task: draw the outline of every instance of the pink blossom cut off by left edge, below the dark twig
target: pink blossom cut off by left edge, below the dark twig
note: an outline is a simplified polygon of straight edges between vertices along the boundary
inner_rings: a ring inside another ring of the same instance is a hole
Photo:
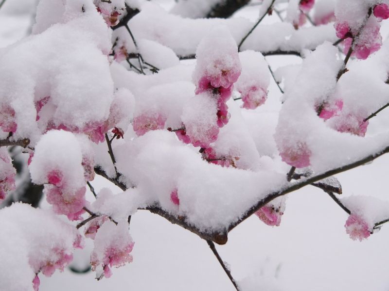
[[[4,147],[0,148],[0,201],[8,191],[15,190],[16,170],[12,166],[11,158]]]

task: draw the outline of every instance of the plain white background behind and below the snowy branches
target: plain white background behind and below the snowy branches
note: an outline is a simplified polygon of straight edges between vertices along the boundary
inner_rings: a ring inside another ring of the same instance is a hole
[[[26,35],[32,20],[22,12],[33,2],[7,0],[4,4],[0,10],[0,48]],[[167,7],[166,3],[172,1],[155,2]],[[11,14],[15,8],[20,11],[18,15]],[[258,9],[248,7],[236,16],[255,20]],[[265,17],[264,23],[273,21],[277,21],[276,16]],[[388,23],[383,23],[385,40],[389,30]],[[267,61],[276,69],[300,59],[268,57]],[[266,106],[259,112],[279,109],[280,92],[271,81]],[[371,119],[369,130],[385,124],[389,124],[389,110]],[[342,195],[371,195],[389,201],[388,162],[389,156],[384,156],[337,175]],[[96,190],[115,189],[100,177],[92,184]],[[266,226],[253,216],[229,234],[227,245],[216,247],[237,280],[252,276],[257,281],[252,291],[388,291],[389,224],[368,240],[355,242],[346,234],[346,219],[347,214],[327,194],[307,186],[288,195],[281,226]],[[134,261],[113,269],[111,278],[97,282],[92,272],[77,275],[69,270],[57,271],[50,278],[40,276],[39,290],[234,290],[207,243],[191,232],[148,211],[139,211],[132,217],[130,233],[135,241]],[[88,248],[84,256],[88,259]]]

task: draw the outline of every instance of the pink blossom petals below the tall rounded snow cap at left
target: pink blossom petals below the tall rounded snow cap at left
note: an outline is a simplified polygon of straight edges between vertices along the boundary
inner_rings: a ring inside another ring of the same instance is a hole
[[[69,220],[80,220],[84,213],[85,206],[85,187],[77,191],[64,190],[56,186],[46,185],[46,199],[57,214],[65,214]]]

